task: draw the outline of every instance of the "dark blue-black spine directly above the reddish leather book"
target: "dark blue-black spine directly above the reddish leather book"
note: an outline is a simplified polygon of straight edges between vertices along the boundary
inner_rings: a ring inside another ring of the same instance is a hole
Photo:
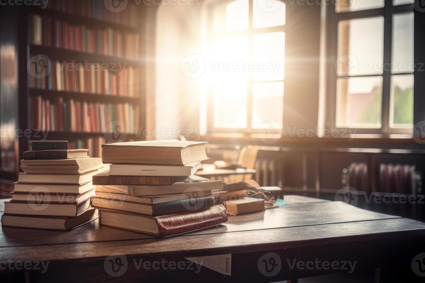
[[[202,208],[212,207],[214,202],[214,197],[210,196],[159,203],[152,206],[152,215],[157,216],[170,213],[200,210]]]

